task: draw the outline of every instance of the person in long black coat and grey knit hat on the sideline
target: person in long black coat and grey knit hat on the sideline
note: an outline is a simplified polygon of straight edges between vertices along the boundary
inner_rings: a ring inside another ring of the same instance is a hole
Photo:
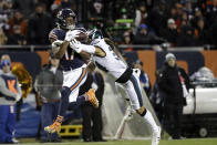
[[[165,64],[159,70],[157,85],[164,100],[163,126],[174,139],[180,138],[180,120],[183,106],[186,105],[184,83],[189,86],[187,74],[184,69],[177,66],[175,55],[167,53]]]

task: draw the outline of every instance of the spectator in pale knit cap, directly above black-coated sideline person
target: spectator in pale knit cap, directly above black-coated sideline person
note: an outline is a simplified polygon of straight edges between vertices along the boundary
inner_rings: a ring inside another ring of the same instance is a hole
[[[178,32],[174,19],[170,18],[167,20],[167,28],[162,29],[161,37],[166,39],[172,45],[175,45]]]

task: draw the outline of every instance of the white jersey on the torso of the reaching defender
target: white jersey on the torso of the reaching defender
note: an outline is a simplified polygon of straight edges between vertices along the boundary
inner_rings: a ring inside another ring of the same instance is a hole
[[[95,39],[91,45],[100,46],[105,52],[104,58],[93,55],[93,61],[97,68],[111,73],[115,79],[118,79],[126,71],[127,65],[105,43],[104,39]]]

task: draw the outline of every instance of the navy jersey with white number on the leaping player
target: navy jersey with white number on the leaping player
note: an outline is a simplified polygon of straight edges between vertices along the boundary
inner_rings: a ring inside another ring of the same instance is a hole
[[[49,39],[54,40],[64,40],[65,38],[65,31],[59,28],[55,28],[51,30],[49,34]],[[74,70],[84,64],[84,60],[81,58],[81,55],[69,46],[65,51],[65,54],[60,60],[60,64],[63,68],[63,71]]]

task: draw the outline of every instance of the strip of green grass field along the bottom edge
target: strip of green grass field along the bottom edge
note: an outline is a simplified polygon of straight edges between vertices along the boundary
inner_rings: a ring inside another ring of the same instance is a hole
[[[24,145],[40,145],[34,139],[20,139],[20,144]],[[54,144],[54,143],[46,143]],[[55,145],[151,145],[151,141],[108,141],[108,142],[93,142],[82,143],[80,141],[63,141],[63,143],[55,143]],[[162,139],[159,145],[217,145],[217,138],[194,138],[194,139]]]

